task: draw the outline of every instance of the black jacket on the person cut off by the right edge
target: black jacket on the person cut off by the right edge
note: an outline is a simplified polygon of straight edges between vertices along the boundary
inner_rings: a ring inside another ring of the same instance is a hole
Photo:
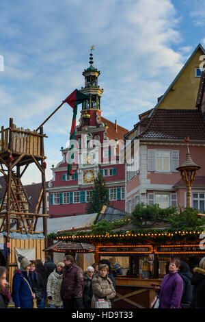
[[[191,308],[205,308],[205,270],[195,267],[193,272]]]

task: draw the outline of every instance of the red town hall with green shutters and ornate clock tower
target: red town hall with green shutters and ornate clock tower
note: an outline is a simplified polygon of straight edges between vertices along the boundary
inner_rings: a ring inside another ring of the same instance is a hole
[[[90,97],[82,104],[81,118],[76,128],[74,165],[72,176],[67,175],[69,149],[61,149],[62,160],[53,166],[53,179],[49,182],[49,216],[85,214],[85,206],[94,186],[94,177],[102,173],[109,189],[110,204],[125,209],[125,171],[119,162],[119,142],[127,129],[101,116],[101,95],[98,86],[100,71],[92,66],[83,71],[85,86],[81,92]]]

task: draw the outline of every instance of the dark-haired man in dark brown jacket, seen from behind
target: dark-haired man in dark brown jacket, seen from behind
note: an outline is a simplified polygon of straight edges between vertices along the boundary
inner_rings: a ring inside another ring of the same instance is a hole
[[[64,257],[63,281],[61,284],[61,297],[64,308],[83,307],[83,270],[74,263],[71,255]]]

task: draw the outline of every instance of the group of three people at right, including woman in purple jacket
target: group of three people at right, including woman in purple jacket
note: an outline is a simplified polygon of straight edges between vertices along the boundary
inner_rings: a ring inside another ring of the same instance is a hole
[[[187,262],[171,260],[161,286],[153,284],[153,288],[159,301],[154,308],[205,308],[205,257],[193,273]]]

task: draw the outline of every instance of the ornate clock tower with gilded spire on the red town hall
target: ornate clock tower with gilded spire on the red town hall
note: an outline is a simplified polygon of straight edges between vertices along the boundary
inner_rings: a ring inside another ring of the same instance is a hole
[[[79,156],[78,181],[82,185],[92,184],[99,171],[98,164],[101,157],[99,147],[104,139],[104,136],[99,134],[99,130],[100,132],[103,129],[105,131],[100,108],[103,89],[98,86],[100,71],[93,66],[93,50],[94,46],[90,50],[90,67],[83,71],[85,86],[81,88],[81,92],[89,96],[90,99],[82,104],[80,124],[76,132],[76,140],[79,143],[77,149]]]

